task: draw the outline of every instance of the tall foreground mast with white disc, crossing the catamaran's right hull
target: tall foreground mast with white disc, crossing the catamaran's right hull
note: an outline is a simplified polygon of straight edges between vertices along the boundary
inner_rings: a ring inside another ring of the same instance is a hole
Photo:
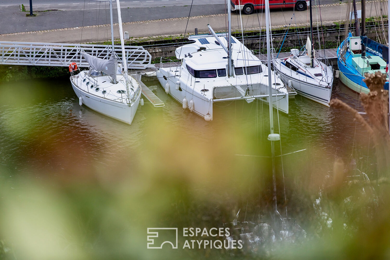
[[[273,134],[273,105],[272,105],[272,77],[271,77],[271,46],[269,36],[269,0],[266,0],[266,34],[267,34],[267,66],[268,66],[268,99],[269,99],[269,126],[271,134]],[[272,182],[273,182],[273,203],[275,212],[278,212],[277,198],[276,198],[276,174],[275,174],[275,146],[271,141],[271,155],[272,155]]]

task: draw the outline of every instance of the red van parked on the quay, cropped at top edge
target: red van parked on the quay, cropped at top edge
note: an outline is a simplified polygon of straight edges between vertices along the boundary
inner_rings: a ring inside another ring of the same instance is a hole
[[[244,14],[252,14],[255,9],[264,9],[264,0],[230,0],[232,11],[242,10]],[[293,7],[298,11],[306,10],[309,1],[304,0],[269,0],[269,9]]]

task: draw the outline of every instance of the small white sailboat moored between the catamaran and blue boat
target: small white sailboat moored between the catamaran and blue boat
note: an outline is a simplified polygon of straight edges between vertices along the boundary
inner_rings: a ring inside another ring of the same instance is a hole
[[[311,1],[310,1],[311,2]],[[310,4],[311,41],[307,37],[306,50],[290,50],[290,57],[273,62],[278,76],[285,83],[289,81],[296,92],[308,99],[329,106],[333,86],[333,71],[314,57],[312,5]]]

